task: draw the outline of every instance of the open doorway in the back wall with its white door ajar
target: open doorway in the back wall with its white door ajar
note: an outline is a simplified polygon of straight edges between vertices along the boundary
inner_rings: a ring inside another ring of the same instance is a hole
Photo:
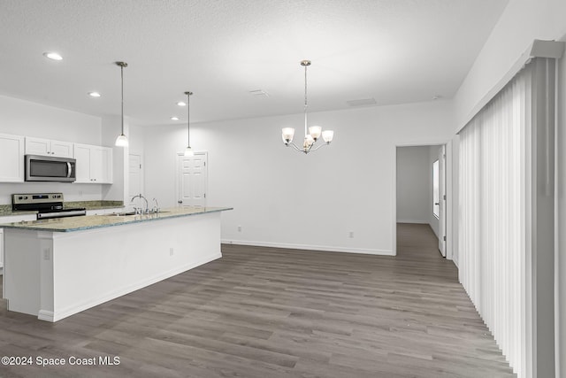
[[[451,144],[402,145],[395,148],[394,251],[397,223],[426,224],[438,237],[440,254],[451,251]]]

